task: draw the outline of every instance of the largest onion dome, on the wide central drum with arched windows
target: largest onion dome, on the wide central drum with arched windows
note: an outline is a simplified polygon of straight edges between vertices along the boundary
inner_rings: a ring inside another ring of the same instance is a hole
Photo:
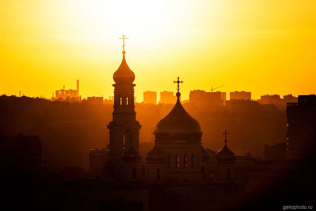
[[[173,109],[156,124],[156,141],[201,141],[201,125],[185,111],[180,103],[180,95],[177,92],[177,102]]]

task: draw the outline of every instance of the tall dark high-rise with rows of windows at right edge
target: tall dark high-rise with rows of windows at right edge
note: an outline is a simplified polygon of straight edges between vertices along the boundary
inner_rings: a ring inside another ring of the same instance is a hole
[[[315,94],[299,95],[298,102],[287,103],[286,142],[286,156],[288,159],[315,159]]]

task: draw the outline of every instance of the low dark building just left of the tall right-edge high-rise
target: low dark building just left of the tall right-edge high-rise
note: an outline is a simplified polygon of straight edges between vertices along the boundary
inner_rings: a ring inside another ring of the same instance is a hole
[[[271,159],[286,159],[286,143],[277,143],[272,146],[264,145],[264,160]]]

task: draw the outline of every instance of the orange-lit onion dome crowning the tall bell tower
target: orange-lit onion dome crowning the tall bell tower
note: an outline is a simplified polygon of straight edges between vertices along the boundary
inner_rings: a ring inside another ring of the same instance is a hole
[[[125,60],[125,51],[123,53],[123,60],[121,65],[119,65],[119,69],[114,72],[113,80],[116,84],[131,84],[135,80],[135,74],[126,63]]]

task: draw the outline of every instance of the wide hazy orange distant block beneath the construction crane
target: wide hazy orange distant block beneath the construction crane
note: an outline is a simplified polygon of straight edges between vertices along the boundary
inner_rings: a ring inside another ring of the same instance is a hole
[[[191,103],[194,103],[197,106],[224,106],[226,105],[226,92],[206,92],[204,90],[193,90],[190,91],[189,99]]]

